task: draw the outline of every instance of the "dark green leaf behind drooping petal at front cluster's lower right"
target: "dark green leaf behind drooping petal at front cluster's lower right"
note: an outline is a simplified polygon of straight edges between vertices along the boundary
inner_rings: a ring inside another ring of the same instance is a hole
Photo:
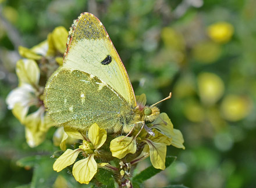
[[[173,156],[166,156],[165,159],[165,167],[169,167],[172,162],[174,162],[176,160],[176,157]],[[161,172],[161,169],[156,169],[154,168],[152,165],[146,169],[144,169],[144,171],[141,171],[140,173],[138,173],[134,178],[133,178],[133,186],[134,187],[140,187],[140,184],[142,182],[144,182],[147,179],[150,179],[152,176],[156,175],[157,173]]]

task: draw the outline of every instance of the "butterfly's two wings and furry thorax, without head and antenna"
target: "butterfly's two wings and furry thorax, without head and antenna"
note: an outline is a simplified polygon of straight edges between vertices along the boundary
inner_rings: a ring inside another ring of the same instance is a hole
[[[74,21],[63,66],[48,79],[44,96],[57,125],[84,130],[96,122],[116,132],[143,121],[125,67],[104,26],[90,13]]]

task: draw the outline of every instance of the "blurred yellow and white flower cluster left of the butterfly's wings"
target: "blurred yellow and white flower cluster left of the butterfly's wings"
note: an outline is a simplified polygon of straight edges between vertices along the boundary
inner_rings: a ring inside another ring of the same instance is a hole
[[[30,147],[38,146],[54,125],[45,113],[43,91],[49,76],[62,64],[66,48],[67,30],[57,27],[47,40],[27,49],[19,46],[23,59],[16,64],[19,85],[13,89],[6,103],[8,109],[25,126],[26,140]]]

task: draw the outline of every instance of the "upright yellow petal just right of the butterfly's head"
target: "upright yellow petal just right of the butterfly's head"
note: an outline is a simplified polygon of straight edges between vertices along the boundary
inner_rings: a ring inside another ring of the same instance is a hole
[[[163,135],[172,138],[173,124],[166,113],[159,114],[159,117],[152,124],[153,126],[150,128],[158,129]]]

